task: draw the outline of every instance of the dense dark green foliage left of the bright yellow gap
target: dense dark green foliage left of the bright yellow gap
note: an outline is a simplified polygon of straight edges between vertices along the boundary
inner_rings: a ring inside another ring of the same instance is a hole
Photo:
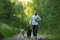
[[[21,15],[21,18],[18,17],[18,15]],[[21,24],[24,22],[24,15],[22,3],[15,5],[15,3],[11,3],[10,0],[1,0],[0,36],[10,37],[17,34]]]

